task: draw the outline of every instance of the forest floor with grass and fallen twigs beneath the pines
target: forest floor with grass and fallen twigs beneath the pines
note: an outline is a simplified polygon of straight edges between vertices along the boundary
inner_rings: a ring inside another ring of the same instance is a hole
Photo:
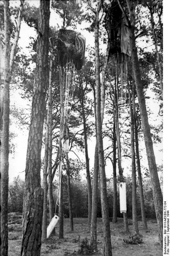
[[[142,229],[142,221],[138,221],[139,232],[142,236],[141,244],[126,244],[123,239],[133,236],[132,220],[128,220],[131,234],[124,233],[124,223],[122,218],[118,218],[117,223],[110,222],[111,244],[113,256],[160,256],[160,244],[158,240],[158,229],[156,220],[147,220],[150,232],[144,232]],[[21,224],[15,224],[14,228],[9,228],[9,256],[20,255],[21,248]],[[102,219],[97,219],[97,246],[98,252],[92,255],[103,255],[103,227]],[[42,243],[41,256],[71,256],[79,255],[77,251],[80,249],[80,241],[90,236],[88,229],[88,219],[74,218],[74,231],[69,230],[69,218],[64,219],[64,239],[58,239],[58,227],[55,228],[56,236],[48,239],[46,243]]]

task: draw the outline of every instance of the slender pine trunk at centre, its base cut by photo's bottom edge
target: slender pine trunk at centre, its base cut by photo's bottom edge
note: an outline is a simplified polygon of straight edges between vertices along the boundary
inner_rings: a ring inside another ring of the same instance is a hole
[[[99,8],[99,9],[98,9]],[[102,120],[101,120],[101,84],[100,84],[100,57],[99,57],[99,10],[96,11],[95,20],[95,57],[96,57],[96,130],[97,130],[97,148],[99,157],[100,170],[100,186],[101,186],[101,205],[102,205],[102,219],[103,219],[103,233],[104,233],[104,256],[112,256],[111,238],[110,238],[110,222],[109,211],[107,203],[107,187],[106,174],[104,167],[103,154],[103,138],[102,138]]]

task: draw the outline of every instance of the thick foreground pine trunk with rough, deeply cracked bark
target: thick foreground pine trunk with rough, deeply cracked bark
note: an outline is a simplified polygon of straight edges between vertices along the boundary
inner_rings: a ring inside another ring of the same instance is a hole
[[[25,169],[21,256],[39,256],[41,249],[43,189],[40,188],[40,168],[48,78],[49,17],[49,1],[40,1],[37,63]]]

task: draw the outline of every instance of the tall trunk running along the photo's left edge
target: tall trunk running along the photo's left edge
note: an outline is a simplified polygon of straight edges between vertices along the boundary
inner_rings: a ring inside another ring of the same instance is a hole
[[[4,1],[4,102],[1,140],[1,255],[8,255],[8,169],[10,124],[10,11],[9,1]]]

